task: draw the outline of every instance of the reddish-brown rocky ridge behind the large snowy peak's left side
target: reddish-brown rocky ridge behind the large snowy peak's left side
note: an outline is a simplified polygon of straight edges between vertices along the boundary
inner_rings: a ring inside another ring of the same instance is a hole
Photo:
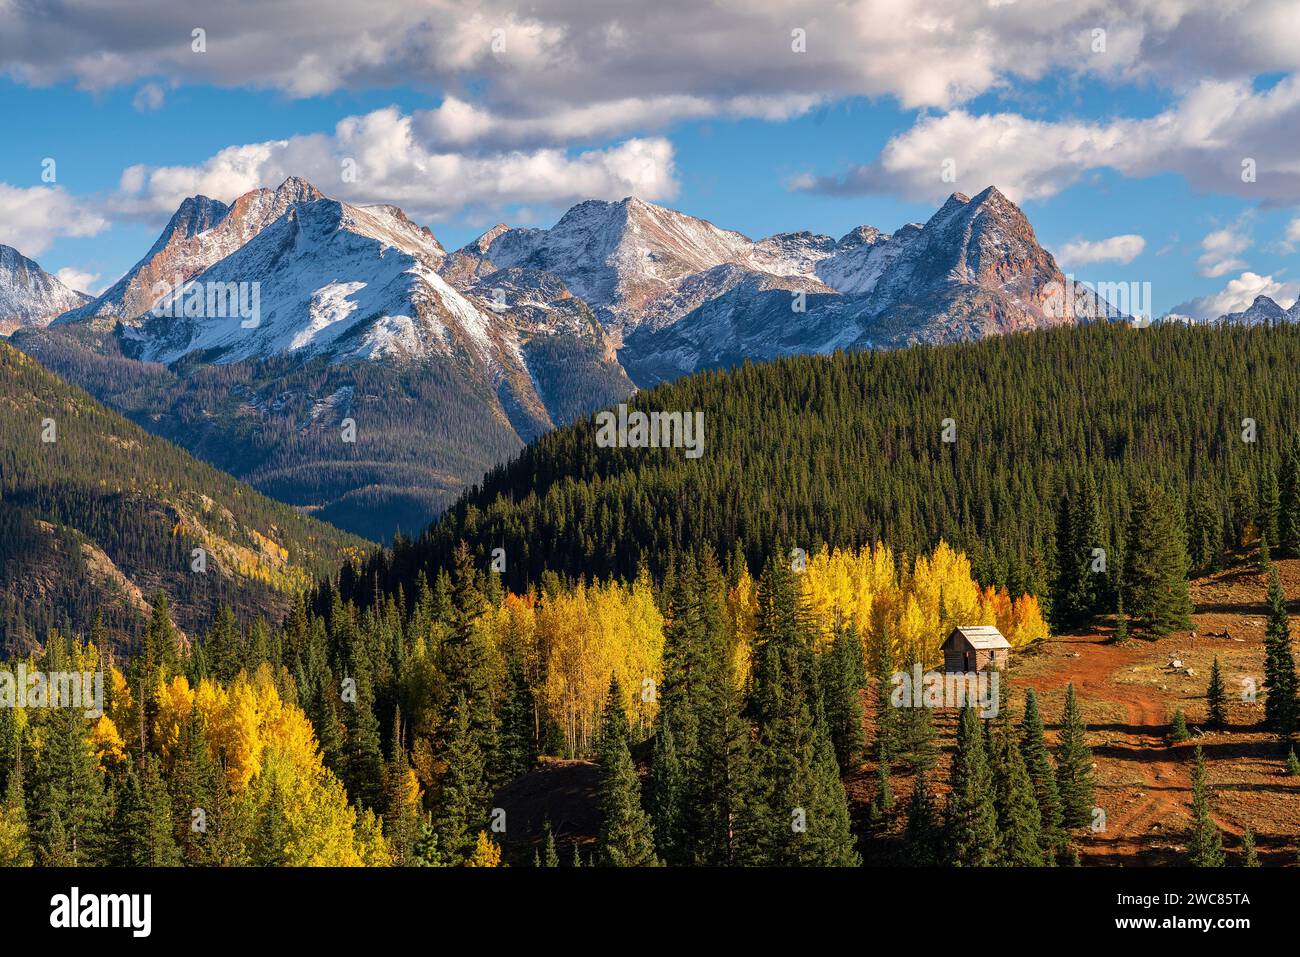
[[[57,321],[136,324],[161,295],[220,263],[291,207],[320,198],[320,191],[299,177],[290,177],[274,190],[246,192],[231,205],[191,196],[181,203],[139,263],[96,299]]]

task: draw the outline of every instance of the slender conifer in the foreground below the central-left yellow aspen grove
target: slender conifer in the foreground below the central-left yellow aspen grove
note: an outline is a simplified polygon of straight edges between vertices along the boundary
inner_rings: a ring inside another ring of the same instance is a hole
[[[641,806],[641,780],[628,750],[628,718],[618,680],[610,685],[601,722],[599,859],[607,867],[654,867],[650,815]]]

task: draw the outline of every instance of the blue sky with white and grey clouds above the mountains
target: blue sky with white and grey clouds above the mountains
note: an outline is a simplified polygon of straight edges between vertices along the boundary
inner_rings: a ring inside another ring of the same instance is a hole
[[[755,238],[889,231],[996,185],[1157,315],[1300,295],[1294,0],[360,7],[0,10],[0,242],[96,291],[185,195],[290,173],[447,247],[628,194]]]

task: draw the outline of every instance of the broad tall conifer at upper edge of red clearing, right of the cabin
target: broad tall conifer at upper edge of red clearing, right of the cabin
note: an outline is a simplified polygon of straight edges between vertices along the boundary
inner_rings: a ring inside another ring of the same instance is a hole
[[[1150,635],[1191,627],[1187,547],[1178,512],[1157,485],[1138,482],[1124,538],[1124,609]]]

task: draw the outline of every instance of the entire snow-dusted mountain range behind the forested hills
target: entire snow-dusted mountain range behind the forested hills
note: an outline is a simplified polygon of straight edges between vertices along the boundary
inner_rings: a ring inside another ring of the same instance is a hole
[[[1067,283],[993,187],[838,239],[592,200],[448,254],[396,207],[290,178],[185,200],[126,276],[13,341],[266,494],[384,538],[637,386],[1067,325]]]

